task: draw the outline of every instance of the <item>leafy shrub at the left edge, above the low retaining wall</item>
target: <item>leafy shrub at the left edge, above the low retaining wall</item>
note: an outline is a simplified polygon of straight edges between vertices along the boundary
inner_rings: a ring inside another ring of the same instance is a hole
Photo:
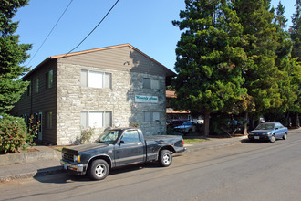
[[[31,120],[32,121],[32,120]],[[38,127],[38,124],[34,127]],[[37,130],[27,133],[26,123],[22,118],[8,114],[0,115],[0,153],[17,153],[26,150],[33,142]]]

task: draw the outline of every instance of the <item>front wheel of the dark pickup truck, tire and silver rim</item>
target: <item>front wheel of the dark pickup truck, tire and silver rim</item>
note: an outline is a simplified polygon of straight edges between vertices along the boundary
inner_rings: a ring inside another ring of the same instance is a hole
[[[88,175],[94,180],[105,179],[109,175],[109,164],[102,159],[93,161],[88,168]]]

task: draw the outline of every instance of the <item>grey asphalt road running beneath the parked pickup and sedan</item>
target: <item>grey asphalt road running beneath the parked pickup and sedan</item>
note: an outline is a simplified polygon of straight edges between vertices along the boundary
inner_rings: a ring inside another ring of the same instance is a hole
[[[182,153],[115,170],[103,181],[48,175],[0,184],[0,200],[301,200],[301,133],[287,140]]]

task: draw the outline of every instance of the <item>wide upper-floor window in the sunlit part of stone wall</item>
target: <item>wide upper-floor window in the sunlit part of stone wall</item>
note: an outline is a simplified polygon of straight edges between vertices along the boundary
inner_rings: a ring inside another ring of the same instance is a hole
[[[99,71],[80,70],[80,85],[89,88],[111,88],[111,74]]]

